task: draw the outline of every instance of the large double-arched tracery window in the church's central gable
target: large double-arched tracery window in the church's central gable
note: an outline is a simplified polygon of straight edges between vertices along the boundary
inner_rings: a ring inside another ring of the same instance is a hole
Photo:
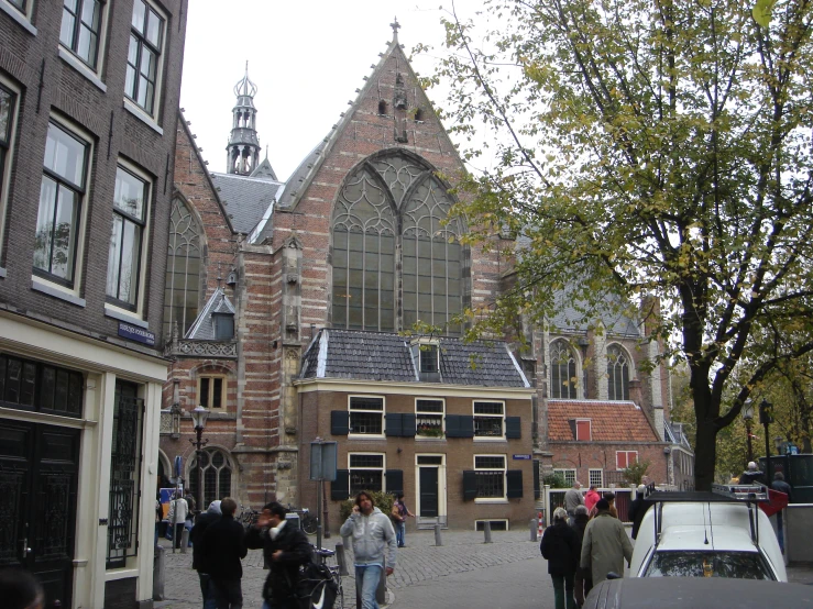
[[[448,325],[463,306],[462,226],[446,222],[452,204],[431,167],[402,154],[372,158],[345,180],[333,211],[334,328],[421,321],[460,332]]]

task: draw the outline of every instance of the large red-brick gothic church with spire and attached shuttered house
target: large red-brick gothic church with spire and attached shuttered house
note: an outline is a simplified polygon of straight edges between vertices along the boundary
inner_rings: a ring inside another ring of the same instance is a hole
[[[341,120],[286,180],[261,144],[256,87],[237,98],[224,173],[183,117],[168,240],[160,474],[197,496],[190,411],[209,411],[205,503],[316,508],[309,445],[338,443],[325,517],[360,489],[404,491],[419,527],[527,523],[540,476],[604,486],[628,463],[675,484],[664,368],[636,320],[528,328],[465,343],[459,313],[512,281],[512,258],[461,241],[463,164],[393,41]],[[495,237],[496,239],[496,237]],[[510,250],[510,248],[508,248]],[[503,340],[499,340],[503,339]],[[677,430],[679,431],[679,430]],[[682,446],[682,449],[681,449]],[[686,473],[686,479],[689,472]],[[679,484],[679,483],[678,483]]]

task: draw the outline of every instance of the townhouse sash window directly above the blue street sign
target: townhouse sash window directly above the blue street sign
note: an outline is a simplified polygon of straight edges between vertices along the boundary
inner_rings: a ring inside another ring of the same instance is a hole
[[[138,308],[150,186],[145,176],[130,168],[119,166],[116,170],[107,295],[112,303],[133,311]]]

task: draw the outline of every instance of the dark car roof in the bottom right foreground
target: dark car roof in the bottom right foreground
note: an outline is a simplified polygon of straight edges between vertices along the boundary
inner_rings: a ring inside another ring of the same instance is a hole
[[[799,609],[813,608],[813,586],[726,577],[606,579],[590,591],[584,609]]]

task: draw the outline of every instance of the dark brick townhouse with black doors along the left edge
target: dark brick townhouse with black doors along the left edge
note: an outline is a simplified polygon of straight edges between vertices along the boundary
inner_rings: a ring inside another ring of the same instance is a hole
[[[48,607],[152,606],[185,31],[185,0],[0,0],[0,566]]]

